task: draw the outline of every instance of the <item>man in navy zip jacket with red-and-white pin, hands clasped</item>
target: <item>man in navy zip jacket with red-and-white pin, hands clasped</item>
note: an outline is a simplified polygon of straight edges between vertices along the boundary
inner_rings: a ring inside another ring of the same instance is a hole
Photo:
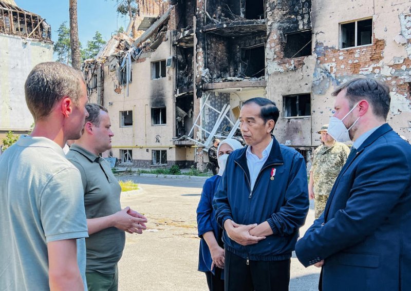
[[[271,135],[278,116],[266,98],[244,103],[240,130],[248,147],[230,154],[214,196],[224,229],[226,290],[288,290],[309,201],[303,156]]]

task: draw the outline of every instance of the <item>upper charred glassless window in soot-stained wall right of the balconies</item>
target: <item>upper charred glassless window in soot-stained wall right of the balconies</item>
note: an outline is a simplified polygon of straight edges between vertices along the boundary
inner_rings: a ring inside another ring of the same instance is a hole
[[[287,34],[284,57],[293,58],[311,55],[311,30]]]

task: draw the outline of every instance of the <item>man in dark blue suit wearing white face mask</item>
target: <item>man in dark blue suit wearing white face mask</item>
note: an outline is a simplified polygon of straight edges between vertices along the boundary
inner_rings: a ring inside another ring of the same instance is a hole
[[[325,291],[411,288],[411,146],[386,123],[389,88],[353,79],[332,95],[328,133],[353,141],[325,211],[295,247]]]

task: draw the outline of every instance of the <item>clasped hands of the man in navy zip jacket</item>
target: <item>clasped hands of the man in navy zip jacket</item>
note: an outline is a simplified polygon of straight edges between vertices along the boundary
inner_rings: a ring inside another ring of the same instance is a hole
[[[256,244],[260,240],[265,239],[267,236],[272,235],[270,224],[267,221],[257,224],[238,224],[227,219],[224,222],[224,229],[230,239],[241,245]]]

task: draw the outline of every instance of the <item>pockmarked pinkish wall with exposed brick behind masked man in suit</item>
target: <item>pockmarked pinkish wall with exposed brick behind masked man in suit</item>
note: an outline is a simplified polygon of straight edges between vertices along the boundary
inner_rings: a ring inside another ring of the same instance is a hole
[[[330,93],[338,84],[358,77],[380,78],[390,87],[388,122],[411,138],[411,13],[408,1],[364,0],[313,2],[314,52],[313,128],[328,122]],[[327,17],[325,16],[327,15]]]

